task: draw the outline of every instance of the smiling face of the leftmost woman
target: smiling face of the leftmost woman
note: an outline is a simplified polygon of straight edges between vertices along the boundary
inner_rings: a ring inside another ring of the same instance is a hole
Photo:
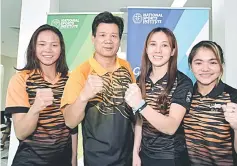
[[[40,66],[56,65],[61,53],[60,40],[57,34],[50,30],[39,33],[36,41],[36,57]]]

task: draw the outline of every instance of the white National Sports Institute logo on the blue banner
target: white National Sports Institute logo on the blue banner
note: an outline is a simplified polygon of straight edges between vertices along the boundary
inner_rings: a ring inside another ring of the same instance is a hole
[[[135,13],[132,17],[135,24],[161,24],[162,13]]]

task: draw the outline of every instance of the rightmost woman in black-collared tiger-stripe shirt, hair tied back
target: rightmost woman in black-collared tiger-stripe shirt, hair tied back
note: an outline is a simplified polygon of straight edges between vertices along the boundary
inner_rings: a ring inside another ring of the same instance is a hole
[[[221,81],[222,48],[201,41],[192,48],[188,61],[197,79],[184,118],[191,165],[237,165],[237,90]]]

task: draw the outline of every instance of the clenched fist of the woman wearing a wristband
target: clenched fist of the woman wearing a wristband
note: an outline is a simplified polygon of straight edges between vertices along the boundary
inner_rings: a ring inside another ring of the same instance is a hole
[[[125,92],[125,101],[133,109],[137,108],[142,101],[141,90],[136,83],[129,84]]]

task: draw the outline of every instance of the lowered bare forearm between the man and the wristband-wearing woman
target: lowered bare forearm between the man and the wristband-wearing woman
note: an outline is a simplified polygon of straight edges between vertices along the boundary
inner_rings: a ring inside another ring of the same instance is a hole
[[[139,153],[140,146],[141,146],[141,140],[142,140],[142,119],[137,119],[134,133],[135,133],[135,136],[134,136],[133,152]]]

